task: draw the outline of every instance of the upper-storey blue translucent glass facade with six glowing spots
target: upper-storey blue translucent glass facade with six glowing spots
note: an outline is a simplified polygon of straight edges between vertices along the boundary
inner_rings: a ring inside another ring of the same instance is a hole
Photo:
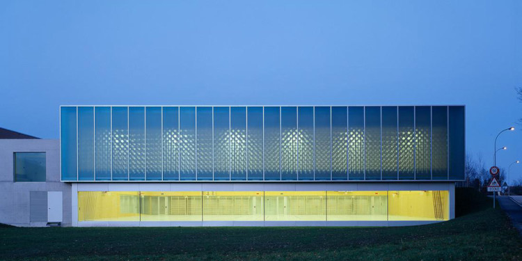
[[[464,106],[62,106],[63,181],[462,180]]]

